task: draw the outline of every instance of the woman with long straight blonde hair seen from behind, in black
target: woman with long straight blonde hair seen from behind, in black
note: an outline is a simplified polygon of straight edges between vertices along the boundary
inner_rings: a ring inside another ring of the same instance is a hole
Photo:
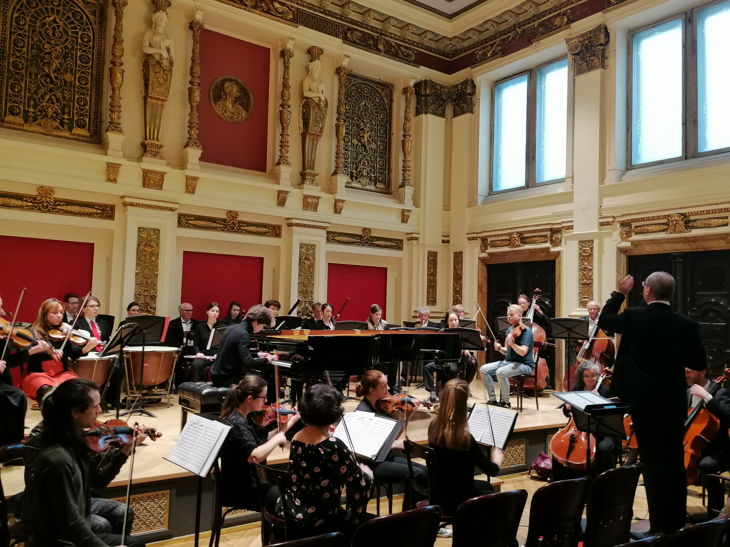
[[[461,379],[447,381],[441,391],[439,414],[429,424],[429,444],[434,451],[434,465],[429,466],[431,498],[443,514],[453,515],[456,508],[470,497],[493,492],[489,481],[477,481],[474,468],[488,477],[499,473],[504,452],[493,449],[493,459],[487,457],[467,428],[469,384]],[[439,535],[450,535],[447,529]]]

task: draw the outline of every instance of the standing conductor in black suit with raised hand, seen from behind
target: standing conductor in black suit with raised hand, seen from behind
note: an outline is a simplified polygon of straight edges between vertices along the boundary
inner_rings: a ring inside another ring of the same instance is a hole
[[[622,335],[610,394],[618,395],[631,408],[643,464],[650,534],[672,533],[685,525],[687,512],[685,368],[704,370],[707,355],[699,324],[672,311],[669,304],[675,279],[655,271],[642,286],[647,306],[628,308],[619,314],[623,300],[634,287],[634,278],[618,279],[617,290],[599,317],[599,327]],[[632,534],[637,536],[643,534]]]

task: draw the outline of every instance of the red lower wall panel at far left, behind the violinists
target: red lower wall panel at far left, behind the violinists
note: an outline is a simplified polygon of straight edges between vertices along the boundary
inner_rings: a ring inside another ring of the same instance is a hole
[[[3,309],[15,312],[20,290],[27,289],[20,306],[20,321],[34,322],[47,298],[63,302],[66,292],[76,292],[84,298],[91,290],[93,243],[1,236],[0,256],[4,260],[0,292]],[[103,302],[104,295],[96,296]],[[18,385],[18,368],[13,368],[12,373]]]

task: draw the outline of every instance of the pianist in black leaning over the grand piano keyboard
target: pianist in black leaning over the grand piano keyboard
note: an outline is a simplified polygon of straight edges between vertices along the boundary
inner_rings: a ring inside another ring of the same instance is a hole
[[[248,368],[261,371],[270,379],[271,367],[268,365],[272,361],[278,361],[279,357],[266,352],[258,352],[258,356],[251,354],[249,346],[251,335],[271,325],[272,319],[271,310],[257,304],[251,306],[243,322],[226,329],[220,339],[218,357],[215,357],[210,368],[210,377],[215,387],[238,384]],[[272,397],[276,400],[274,391],[272,390]]]

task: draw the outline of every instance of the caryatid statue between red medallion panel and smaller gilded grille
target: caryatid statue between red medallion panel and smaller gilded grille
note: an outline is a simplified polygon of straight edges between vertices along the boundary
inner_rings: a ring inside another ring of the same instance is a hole
[[[322,136],[327,119],[327,98],[324,96],[324,83],[319,74],[322,70],[320,55],[324,50],[320,47],[310,47],[310,64],[307,76],[301,82],[304,98],[301,101],[301,183],[317,185],[315,172],[315,158],[317,144]]]

